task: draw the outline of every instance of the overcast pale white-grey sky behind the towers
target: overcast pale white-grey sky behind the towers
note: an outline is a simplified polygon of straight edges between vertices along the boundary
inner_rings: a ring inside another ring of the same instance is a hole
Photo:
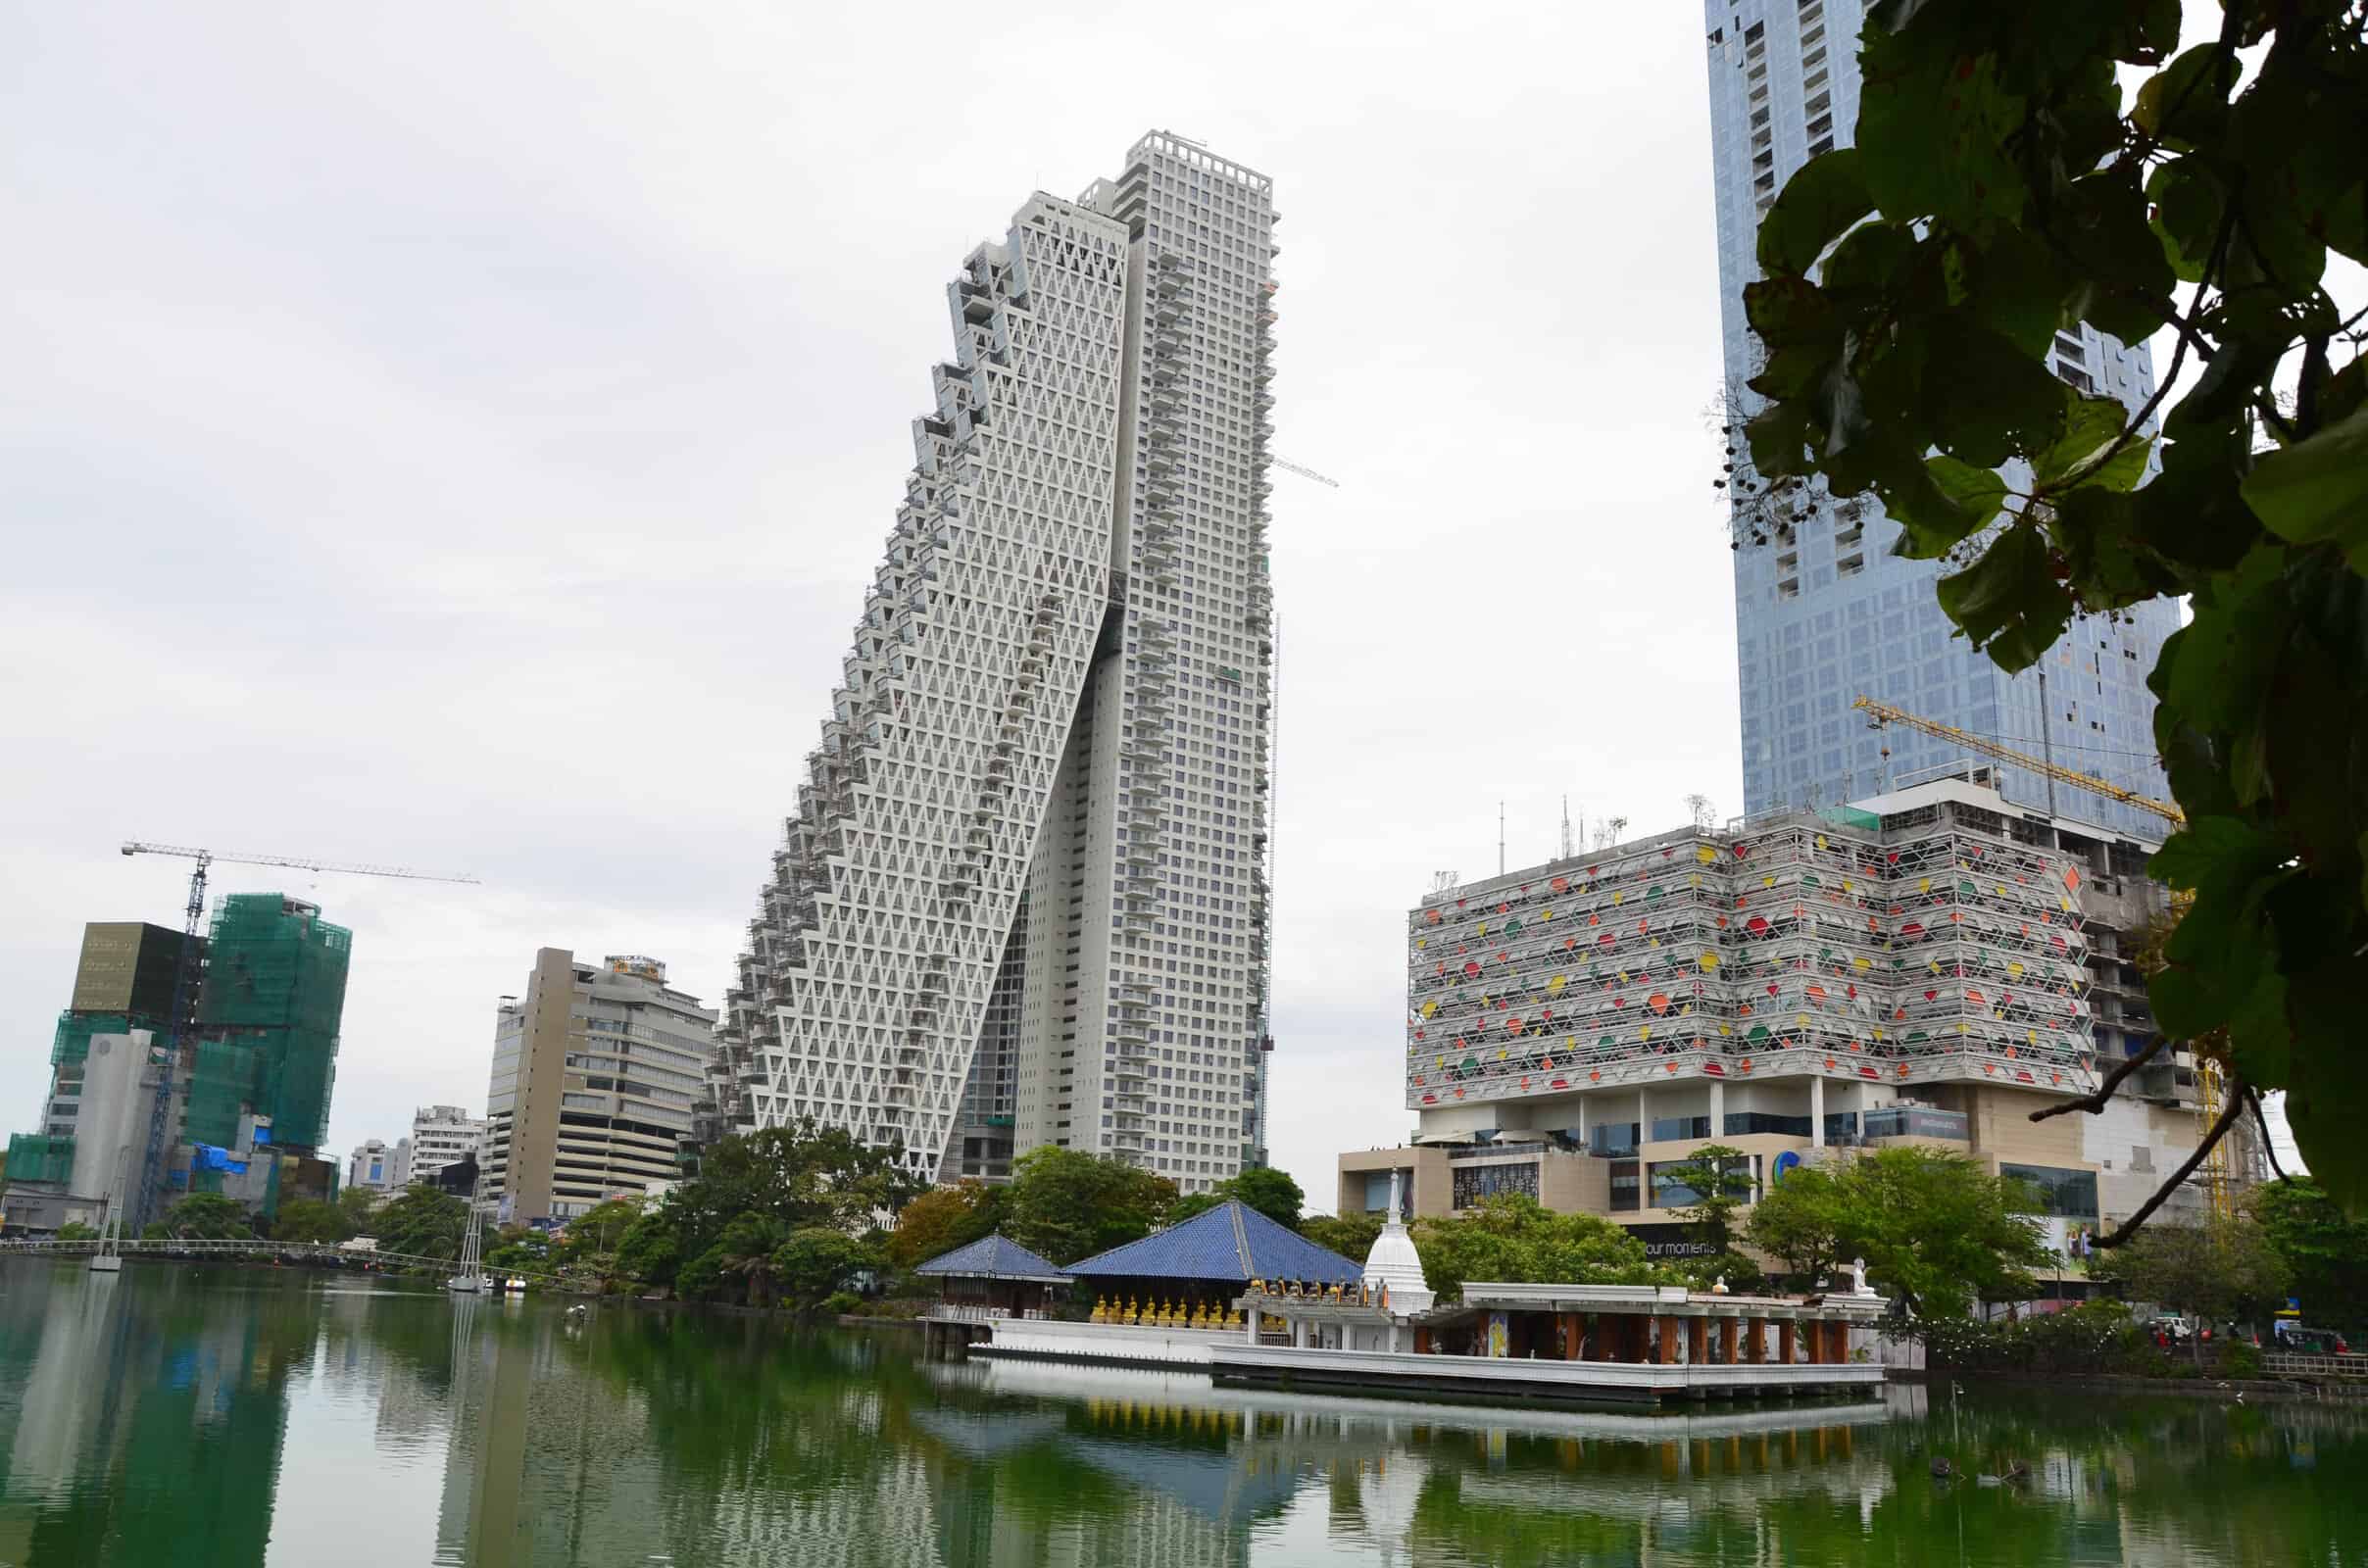
[[[1404,910],[1740,803],[1698,12],[0,9],[0,1123],[85,919],[353,928],[332,1144],[535,947],[727,978],[945,282],[1146,128],[1283,211],[1274,1156],[1397,1142]]]

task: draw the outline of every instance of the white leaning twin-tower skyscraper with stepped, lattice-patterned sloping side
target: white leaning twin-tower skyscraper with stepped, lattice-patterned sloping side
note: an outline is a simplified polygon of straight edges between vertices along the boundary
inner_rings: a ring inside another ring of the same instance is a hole
[[[725,997],[729,1123],[1198,1191],[1265,1158],[1272,182],[1151,133],[954,358]]]

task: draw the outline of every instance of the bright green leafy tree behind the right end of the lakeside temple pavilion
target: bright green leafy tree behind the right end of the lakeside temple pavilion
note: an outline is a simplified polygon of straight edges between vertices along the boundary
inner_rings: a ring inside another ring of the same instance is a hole
[[[1819,1272],[1864,1258],[1916,1317],[1965,1317],[1975,1300],[2018,1300],[2053,1258],[2018,1182],[1961,1153],[1878,1149],[1840,1165],[1797,1165],[1752,1206],[1752,1246]],[[1802,1270],[1809,1272],[1809,1270]]]

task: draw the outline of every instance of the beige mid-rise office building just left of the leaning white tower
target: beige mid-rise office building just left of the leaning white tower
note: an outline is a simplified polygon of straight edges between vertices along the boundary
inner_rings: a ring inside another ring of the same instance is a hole
[[[504,1220],[571,1220],[677,1180],[713,1030],[658,959],[535,952],[526,995],[495,1016],[485,1199]]]

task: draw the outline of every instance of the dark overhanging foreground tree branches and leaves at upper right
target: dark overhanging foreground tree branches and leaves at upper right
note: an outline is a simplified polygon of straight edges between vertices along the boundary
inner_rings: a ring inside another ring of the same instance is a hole
[[[2228,1030],[2207,1142],[2285,1087],[2314,1177],[2361,1210],[2368,313],[2328,258],[2368,261],[2368,12],[2226,0],[2214,38],[2179,31],[2171,0],[1875,5],[1857,144],[1759,225],[1745,436],[1788,521],[1873,495],[1897,554],[1946,559],[1942,611],[2003,670],[2188,599],[2148,682],[2186,815],[2153,874],[2195,893],[2155,1018]],[[2122,66],[2155,73],[2124,99]],[[2048,372],[2079,322],[2176,339],[2136,415]]]

